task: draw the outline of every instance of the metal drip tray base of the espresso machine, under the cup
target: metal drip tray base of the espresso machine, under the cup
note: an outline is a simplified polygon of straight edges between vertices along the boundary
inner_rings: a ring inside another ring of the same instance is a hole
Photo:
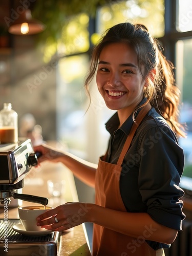
[[[1,256],[56,256],[59,232],[41,237],[19,234],[12,226],[19,220],[0,220],[0,255]],[[7,240],[8,239],[8,240]]]

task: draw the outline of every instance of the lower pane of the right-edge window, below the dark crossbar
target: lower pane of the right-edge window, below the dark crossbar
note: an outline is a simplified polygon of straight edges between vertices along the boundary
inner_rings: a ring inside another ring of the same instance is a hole
[[[192,39],[179,40],[177,42],[177,81],[181,86],[182,108],[180,120],[187,125],[187,138],[180,138],[179,142],[184,149],[185,168],[184,175],[192,178],[192,92],[191,92],[191,58]]]

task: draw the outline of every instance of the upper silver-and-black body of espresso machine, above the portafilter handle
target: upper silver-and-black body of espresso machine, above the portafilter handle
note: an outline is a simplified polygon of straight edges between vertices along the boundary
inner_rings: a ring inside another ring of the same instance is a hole
[[[37,156],[30,139],[14,144],[0,144],[0,200],[13,197],[16,189],[24,187],[24,178],[32,166],[37,165]]]

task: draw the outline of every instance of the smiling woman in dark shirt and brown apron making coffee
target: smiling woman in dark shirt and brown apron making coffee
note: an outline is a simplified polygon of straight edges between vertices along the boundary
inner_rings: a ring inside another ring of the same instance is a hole
[[[98,165],[47,145],[34,148],[42,154],[39,162],[61,162],[95,188],[95,202],[57,206],[40,215],[37,225],[63,231],[94,223],[93,256],[164,255],[185,218],[179,188],[184,156],[175,136],[183,131],[172,65],[143,26],[121,23],[94,48],[87,89],[95,74],[106,105],[117,110],[106,123],[111,137]],[[72,222],[81,207],[88,210]]]

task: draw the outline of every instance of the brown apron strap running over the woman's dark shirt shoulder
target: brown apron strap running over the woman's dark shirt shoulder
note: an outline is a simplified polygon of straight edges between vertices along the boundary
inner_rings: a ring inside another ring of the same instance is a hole
[[[129,135],[126,138],[126,141],[124,143],[123,149],[121,151],[121,154],[119,156],[119,159],[117,161],[117,165],[121,166],[123,159],[125,157],[125,154],[127,153],[127,151],[130,148],[131,142],[133,140],[133,136],[137,130],[137,128],[139,127],[139,124],[141,123],[141,121],[143,120],[143,118],[146,116],[146,114],[148,113],[148,111],[150,111],[152,108],[150,103],[147,103],[146,106],[143,107],[142,110],[140,110],[139,114],[137,115],[135,122],[132,125],[131,131],[129,133]]]

